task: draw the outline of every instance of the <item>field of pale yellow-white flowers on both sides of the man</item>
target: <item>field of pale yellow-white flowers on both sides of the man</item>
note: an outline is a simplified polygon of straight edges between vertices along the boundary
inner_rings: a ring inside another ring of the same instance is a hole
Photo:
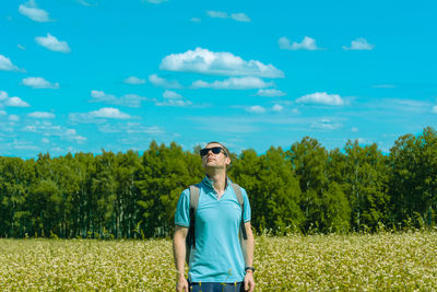
[[[258,236],[257,291],[436,291],[437,233]],[[174,291],[172,242],[0,240],[0,290]]]

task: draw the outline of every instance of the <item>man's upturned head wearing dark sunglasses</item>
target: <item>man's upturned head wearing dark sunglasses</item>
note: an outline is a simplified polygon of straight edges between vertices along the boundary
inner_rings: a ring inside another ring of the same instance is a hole
[[[229,151],[220,142],[209,142],[205,148],[200,150],[202,165],[205,170],[216,170],[226,167],[231,164]]]

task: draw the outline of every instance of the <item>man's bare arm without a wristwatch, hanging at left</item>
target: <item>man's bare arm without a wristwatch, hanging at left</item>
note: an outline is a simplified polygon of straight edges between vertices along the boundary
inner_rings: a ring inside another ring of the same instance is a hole
[[[176,291],[188,292],[188,282],[185,279],[185,257],[186,257],[186,237],[188,227],[175,226],[175,235],[173,236],[173,256],[175,258],[175,267],[177,272]]]

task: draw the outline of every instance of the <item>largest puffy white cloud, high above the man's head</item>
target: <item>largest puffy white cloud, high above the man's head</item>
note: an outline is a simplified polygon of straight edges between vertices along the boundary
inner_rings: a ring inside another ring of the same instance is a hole
[[[214,52],[200,47],[182,54],[166,56],[162,60],[160,69],[215,75],[284,77],[284,73],[271,63],[264,65],[258,60],[246,61],[231,52]]]

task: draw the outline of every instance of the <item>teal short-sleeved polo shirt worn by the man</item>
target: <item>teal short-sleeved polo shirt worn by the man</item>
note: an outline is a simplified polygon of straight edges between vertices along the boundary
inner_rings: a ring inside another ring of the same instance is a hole
[[[245,260],[238,233],[241,224],[241,207],[231,179],[223,196],[217,194],[205,176],[199,184],[199,205],[196,213],[196,248],[189,259],[188,279],[191,282],[240,282],[245,278]],[[244,221],[250,221],[250,205],[246,190],[244,199]],[[190,225],[190,190],[179,197],[175,224]]]

